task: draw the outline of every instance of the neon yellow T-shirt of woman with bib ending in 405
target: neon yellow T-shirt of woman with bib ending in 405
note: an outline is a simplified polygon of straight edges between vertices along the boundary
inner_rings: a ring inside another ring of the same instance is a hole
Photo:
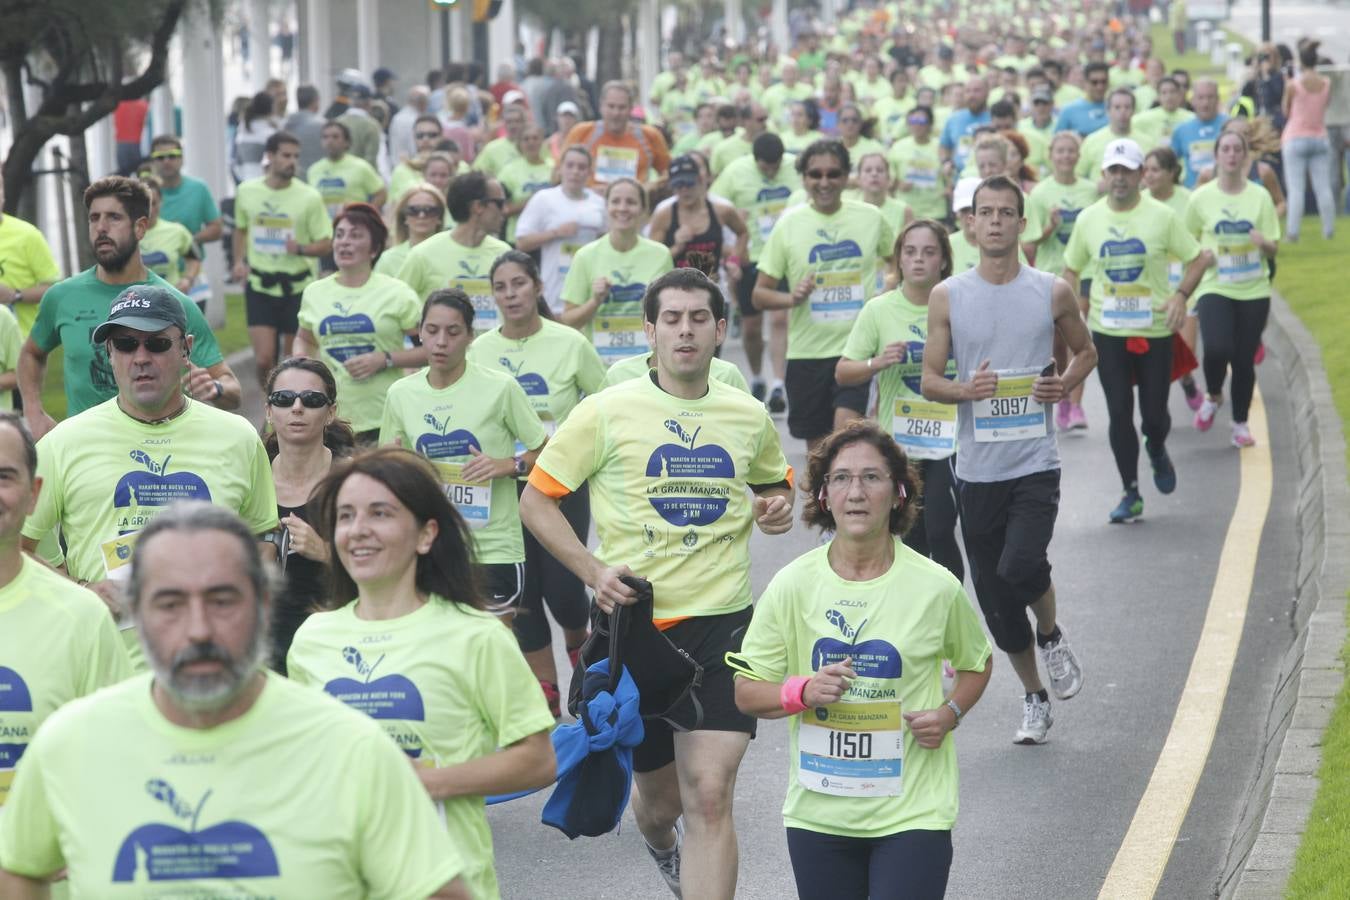
[[[397,439],[437,463],[451,498],[474,532],[474,557],[479,563],[521,563],[525,542],[514,479],[495,478],[486,490],[467,490],[455,480],[454,467],[473,459],[471,447],[494,459],[514,456],[517,441],[525,449],[539,449],[548,432],[510,375],[466,363],[458,382],[437,390],[427,381],[428,371],[401,378],[389,389],[379,443],[393,444]]]

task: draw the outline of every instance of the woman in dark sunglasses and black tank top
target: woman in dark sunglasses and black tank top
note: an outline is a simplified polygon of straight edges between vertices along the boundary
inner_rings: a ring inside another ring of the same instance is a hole
[[[271,459],[281,519],[277,561],[285,590],[271,607],[271,668],[286,673],[296,629],[328,595],[328,545],[313,528],[309,495],[333,466],[351,453],[356,436],[338,418],[338,382],[317,359],[292,356],[267,375],[263,447]]]

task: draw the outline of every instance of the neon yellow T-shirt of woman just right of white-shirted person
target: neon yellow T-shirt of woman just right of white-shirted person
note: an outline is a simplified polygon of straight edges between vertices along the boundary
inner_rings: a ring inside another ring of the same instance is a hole
[[[675,267],[670,247],[639,237],[632,250],[618,251],[602,235],[572,255],[563,279],[563,302],[580,306],[590,300],[591,282],[609,279],[609,297],[582,329],[606,366],[624,356],[651,349],[643,328],[643,296],[647,285]]]

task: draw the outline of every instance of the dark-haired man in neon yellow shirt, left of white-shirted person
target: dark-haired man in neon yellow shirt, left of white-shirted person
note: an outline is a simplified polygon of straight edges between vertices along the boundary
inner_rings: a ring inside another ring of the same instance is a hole
[[[423,301],[433,290],[458,287],[474,304],[474,328],[491,331],[498,322],[487,270],[510,250],[510,244],[493,237],[505,220],[506,192],[495,178],[470,173],[451,182],[446,202],[455,227],[409,251],[398,279]]]

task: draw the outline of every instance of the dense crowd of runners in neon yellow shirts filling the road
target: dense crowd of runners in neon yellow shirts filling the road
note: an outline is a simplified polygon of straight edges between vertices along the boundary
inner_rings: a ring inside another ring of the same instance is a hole
[[[240,123],[228,231],[173,135],[85,193],[86,271],[0,219],[0,896],[501,896],[485,797],[554,781],[571,669],[649,586],[698,672],[632,758],[670,889],[736,893],[737,770],[787,718],[799,896],[941,897],[994,649],[1018,745],[1084,684],[1058,434],[1110,443],[1103,525],[1143,513],[1139,432],[1179,488],[1173,382],[1253,445],[1272,125],[1123,5],[857,4],[641,97],[347,72]],[[757,598],[756,528],[819,533]]]

